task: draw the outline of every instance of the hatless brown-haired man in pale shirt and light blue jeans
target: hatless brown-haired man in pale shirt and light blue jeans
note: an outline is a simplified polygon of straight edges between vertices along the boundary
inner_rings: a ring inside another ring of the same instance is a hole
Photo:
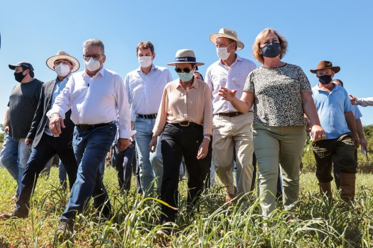
[[[141,189],[144,194],[154,189],[154,176],[158,190],[161,189],[163,161],[158,137],[156,151],[149,151],[153,136],[154,122],[161,103],[164,86],[172,81],[170,71],[165,67],[155,66],[154,46],[150,41],[141,41],[136,47],[140,66],[128,73],[124,79],[128,100],[132,101],[131,126],[135,126],[138,169],[140,170]]]

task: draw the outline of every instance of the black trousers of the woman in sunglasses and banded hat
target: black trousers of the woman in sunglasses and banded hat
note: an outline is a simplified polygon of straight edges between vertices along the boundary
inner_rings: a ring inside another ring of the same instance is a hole
[[[203,126],[189,125],[182,127],[178,124],[166,124],[162,133],[161,151],[163,157],[163,179],[161,200],[177,207],[178,184],[181,159],[184,156],[188,171],[188,207],[193,207],[203,190],[206,178],[206,167],[210,167],[209,159],[197,160],[198,148],[203,140]],[[177,210],[162,205],[162,223],[175,222]]]

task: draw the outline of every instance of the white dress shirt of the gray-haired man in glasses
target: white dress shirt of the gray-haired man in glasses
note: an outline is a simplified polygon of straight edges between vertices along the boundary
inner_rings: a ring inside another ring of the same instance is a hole
[[[119,116],[119,138],[134,134],[123,80],[104,67],[92,78],[85,70],[71,75],[47,116],[50,118],[53,113],[59,113],[65,119],[69,109],[75,125],[108,123]]]

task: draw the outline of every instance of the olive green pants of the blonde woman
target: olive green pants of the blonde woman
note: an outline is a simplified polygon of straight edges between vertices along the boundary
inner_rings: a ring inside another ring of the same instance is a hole
[[[304,126],[253,124],[253,145],[258,162],[260,213],[269,216],[275,209],[278,166],[283,184],[283,206],[294,209],[299,195],[299,173],[306,139]]]

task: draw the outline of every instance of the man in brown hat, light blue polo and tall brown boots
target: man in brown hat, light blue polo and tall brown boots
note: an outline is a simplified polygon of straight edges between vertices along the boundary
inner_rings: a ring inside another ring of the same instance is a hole
[[[355,197],[355,174],[357,163],[354,159],[355,149],[360,142],[355,127],[352,105],[347,91],[332,83],[335,73],[340,67],[333,67],[329,61],[321,61],[315,73],[319,83],[312,88],[317,113],[326,138],[314,142],[313,153],[316,159],[316,177],[319,180],[320,192],[332,198],[330,181],[334,160],[340,167],[341,198],[349,202]]]

